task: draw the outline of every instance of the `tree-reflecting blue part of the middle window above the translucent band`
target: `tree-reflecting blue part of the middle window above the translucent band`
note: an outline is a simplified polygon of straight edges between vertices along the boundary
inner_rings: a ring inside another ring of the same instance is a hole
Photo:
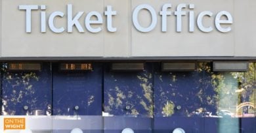
[[[148,67],[151,67],[148,65]],[[152,68],[104,74],[104,111],[112,115],[153,116]]]

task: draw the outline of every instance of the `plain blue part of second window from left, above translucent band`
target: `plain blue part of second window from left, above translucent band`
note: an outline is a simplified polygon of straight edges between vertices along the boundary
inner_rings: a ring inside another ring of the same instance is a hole
[[[53,64],[53,115],[102,115],[101,65],[88,72],[63,72]]]

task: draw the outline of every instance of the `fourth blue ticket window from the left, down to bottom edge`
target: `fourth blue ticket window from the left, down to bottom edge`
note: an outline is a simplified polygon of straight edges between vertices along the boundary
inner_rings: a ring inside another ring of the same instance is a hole
[[[169,69],[163,70],[163,63],[155,64],[154,132],[169,133],[182,128],[185,132],[203,133],[203,71],[195,65],[191,70],[182,68],[186,65],[170,63],[166,65]]]

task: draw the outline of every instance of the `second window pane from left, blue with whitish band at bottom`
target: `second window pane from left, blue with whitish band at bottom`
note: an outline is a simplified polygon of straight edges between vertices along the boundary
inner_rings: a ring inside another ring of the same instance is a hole
[[[102,132],[102,65],[94,63],[91,71],[58,68],[54,63],[53,133]]]

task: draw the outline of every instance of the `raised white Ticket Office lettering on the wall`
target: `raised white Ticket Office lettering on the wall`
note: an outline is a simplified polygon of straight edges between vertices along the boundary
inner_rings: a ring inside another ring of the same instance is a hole
[[[228,33],[232,30],[230,25],[233,23],[232,15],[227,11],[220,11],[217,12],[216,16],[213,14],[213,12],[209,10],[205,10],[198,13],[198,17],[196,18],[196,14],[194,13],[194,4],[185,4],[181,3],[177,5],[175,11],[171,11],[172,5],[171,3],[166,3],[161,7],[160,12],[157,12],[152,6],[147,4],[138,5],[133,10],[132,14],[132,22],[137,29],[137,31],[140,31],[142,33],[148,33],[150,31],[153,31],[156,28],[156,25],[158,24],[158,16],[159,13],[161,17],[161,32],[165,33],[167,32],[167,17],[174,16],[173,18],[176,19],[176,31],[177,33],[182,32],[182,18],[188,14],[188,32],[193,33],[195,31],[195,26],[197,25],[198,29],[204,33],[209,33],[214,30],[214,27],[216,27],[216,30],[221,33]],[[185,9],[188,8],[188,11],[185,11]],[[19,10],[25,10],[26,11],[26,33],[32,32],[32,11],[35,12],[36,10],[41,11],[41,33],[47,32],[47,8],[46,5],[20,5]],[[148,27],[143,27],[140,23],[139,14],[141,10],[146,10],[149,14],[151,19],[150,25]],[[53,31],[54,33],[63,33],[64,31],[68,33],[73,32],[73,28],[75,27],[79,33],[84,33],[84,29],[87,29],[87,31],[91,33],[99,33],[102,31],[101,25],[104,24],[103,16],[106,16],[106,29],[108,32],[116,32],[117,27],[114,27],[113,25],[113,17],[117,15],[117,11],[114,11],[112,9],[112,6],[108,5],[106,7],[106,10],[104,12],[97,12],[97,11],[91,11],[87,12],[87,15],[84,18],[84,25],[82,25],[79,20],[83,19],[83,14],[85,12],[80,11],[77,13],[73,12],[73,6],[67,5],[67,13],[64,14],[64,12],[56,11],[52,12],[49,15],[48,25],[49,29]],[[203,23],[203,20],[213,18],[215,16],[215,20],[213,23],[214,25],[207,25]],[[66,27],[64,25],[58,25],[54,20],[56,18],[64,18],[66,17],[67,25]],[[96,18],[96,20],[92,20],[92,18]],[[196,23],[195,23],[196,20]],[[98,27],[92,26],[92,25],[98,25]],[[223,27],[223,25],[225,25]]]

